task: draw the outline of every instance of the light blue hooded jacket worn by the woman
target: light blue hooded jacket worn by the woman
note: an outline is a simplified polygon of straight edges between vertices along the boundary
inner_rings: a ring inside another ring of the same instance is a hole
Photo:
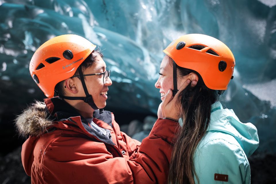
[[[233,110],[223,109],[220,102],[212,105],[211,119],[206,136],[199,143],[194,166],[200,184],[250,183],[247,157],[258,148],[257,129],[252,123],[239,121]],[[228,175],[228,182],[216,181]],[[197,183],[196,177],[194,177]]]

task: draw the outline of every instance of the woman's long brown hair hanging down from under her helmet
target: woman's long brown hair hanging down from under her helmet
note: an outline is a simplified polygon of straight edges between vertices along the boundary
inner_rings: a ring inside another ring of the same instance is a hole
[[[170,62],[173,60],[170,58]],[[218,93],[208,89],[204,82],[194,70],[177,66],[178,79],[196,73],[199,77],[195,87],[189,85],[178,96],[180,116],[183,126],[176,135],[176,142],[173,148],[170,170],[168,173],[169,184],[194,184],[198,175],[194,167],[194,154],[200,140],[206,134],[210,122],[211,105],[218,100]],[[198,183],[198,182],[197,182]]]

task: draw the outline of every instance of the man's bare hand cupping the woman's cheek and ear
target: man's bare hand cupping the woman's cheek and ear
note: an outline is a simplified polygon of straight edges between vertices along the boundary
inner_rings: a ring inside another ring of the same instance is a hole
[[[175,94],[175,97],[173,97],[173,91],[169,89],[168,93],[165,96],[164,101],[159,105],[159,108],[161,107],[163,118],[169,118],[169,119],[178,121],[180,109],[176,105],[177,97],[181,93],[181,91],[183,91],[183,89],[185,89],[189,85],[189,83],[191,83],[191,80],[187,79],[185,83],[181,86],[179,91]],[[158,112],[159,112],[159,108],[158,108]]]

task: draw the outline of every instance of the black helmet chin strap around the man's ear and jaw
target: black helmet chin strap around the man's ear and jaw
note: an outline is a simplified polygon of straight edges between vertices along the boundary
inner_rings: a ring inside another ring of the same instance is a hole
[[[86,97],[66,97],[66,96],[60,96],[64,99],[68,99],[68,100],[83,100],[85,103],[89,104],[94,110],[99,109],[96,104],[93,101],[93,97],[92,95],[90,95],[87,91],[87,87],[85,85],[85,81],[83,78],[83,72],[81,71],[81,68],[78,68],[78,73],[80,74],[80,78],[81,78],[81,84],[83,85],[83,89],[85,92]],[[104,109],[100,109],[100,114],[104,112]]]

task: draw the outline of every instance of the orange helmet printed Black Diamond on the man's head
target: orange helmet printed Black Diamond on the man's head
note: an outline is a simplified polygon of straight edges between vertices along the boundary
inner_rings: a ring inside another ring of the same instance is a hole
[[[72,77],[95,48],[96,45],[75,34],[52,38],[35,51],[30,74],[44,94],[53,97],[55,85]]]

